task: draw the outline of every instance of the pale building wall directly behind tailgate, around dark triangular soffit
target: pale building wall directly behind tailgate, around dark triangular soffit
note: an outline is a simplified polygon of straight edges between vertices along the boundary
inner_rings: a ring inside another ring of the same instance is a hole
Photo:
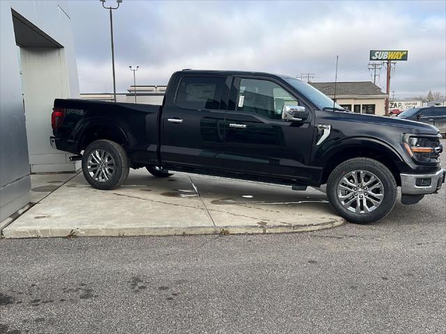
[[[63,46],[20,48],[31,173],[75,171],[79,161],[70,162],[70,154],[49,145],[54,99],[79,97],[68,6],[65,1],[12,1],[11,8]]]

